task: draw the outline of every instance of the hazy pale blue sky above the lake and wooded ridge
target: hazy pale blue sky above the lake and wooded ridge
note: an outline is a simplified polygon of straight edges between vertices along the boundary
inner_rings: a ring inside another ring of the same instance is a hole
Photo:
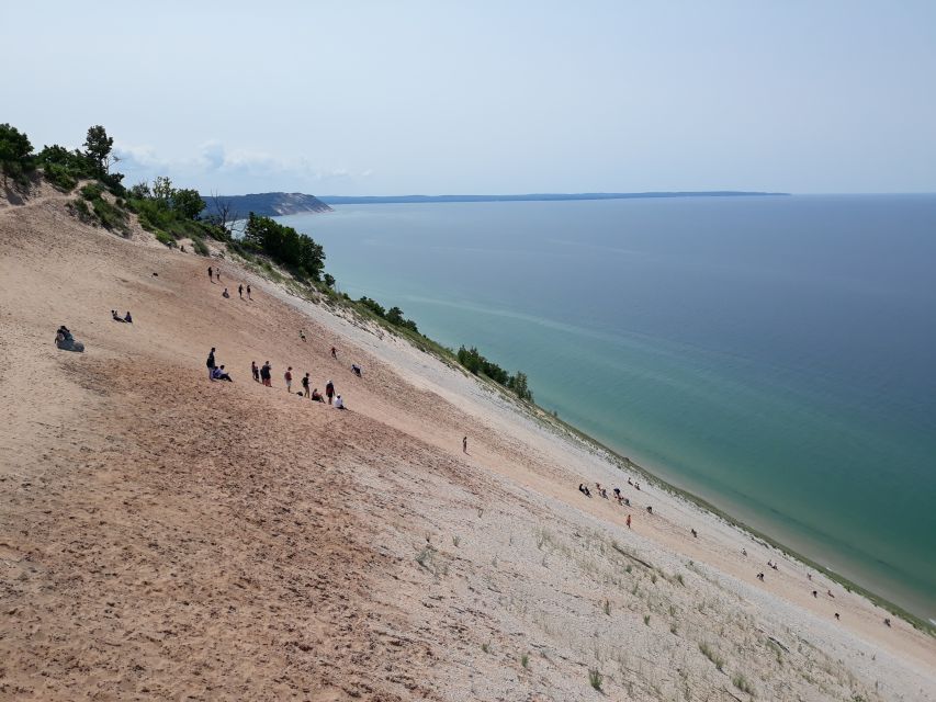
[[[936,191],[936,2],[0,4],[0,121],[202,193]]]

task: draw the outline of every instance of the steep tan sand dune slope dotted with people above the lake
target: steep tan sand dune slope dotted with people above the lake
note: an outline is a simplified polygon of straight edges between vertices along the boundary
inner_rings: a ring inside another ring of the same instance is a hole
[[[228,261],[224,299],[217,260],[66,200],[0,206],[0,699],[936,699],[933,637],[398,339]]]

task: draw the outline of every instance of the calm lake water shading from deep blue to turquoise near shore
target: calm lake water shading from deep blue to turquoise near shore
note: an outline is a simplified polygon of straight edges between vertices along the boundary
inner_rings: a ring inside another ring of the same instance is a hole
[[[936,196],[340,206],[341,290],[936,616]]]

